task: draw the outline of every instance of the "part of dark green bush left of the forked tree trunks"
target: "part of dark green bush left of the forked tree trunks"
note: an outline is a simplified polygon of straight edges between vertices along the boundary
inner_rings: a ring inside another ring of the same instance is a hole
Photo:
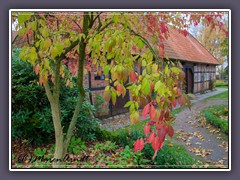
[[[13,50],[12,60],[12,137],[48,142],[53,132],[49,103],[31,66],[18,57],[20,51]]]

